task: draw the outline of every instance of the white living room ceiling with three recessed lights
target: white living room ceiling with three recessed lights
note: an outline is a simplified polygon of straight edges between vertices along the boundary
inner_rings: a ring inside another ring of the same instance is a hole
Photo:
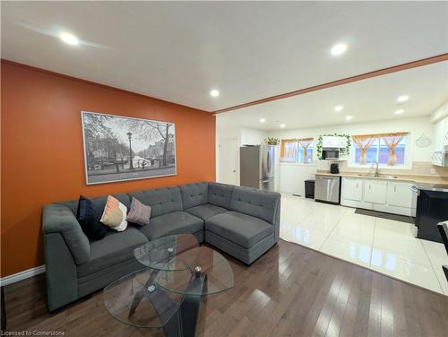
[[[1,5],[2,57],[208,111],[448,52],[447,2]]]

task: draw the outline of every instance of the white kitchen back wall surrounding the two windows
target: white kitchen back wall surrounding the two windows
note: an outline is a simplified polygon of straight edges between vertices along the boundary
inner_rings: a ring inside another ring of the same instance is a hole
[[[431,124],[430,117],[400,118],[395,120],[375,121],[368,123],[350,123],[344,125],[328,125],[322,127],[271,131],[268,136],[280,139],[314,137],[321,134],[380,134],[387,132],[409,132],[409,145],[412,161],[429,162],[433,152],[432,145],[421,149],[415,146],[416,139],[422,134],[426,134],[432,141],[434,125]],[[314,178],[316,170],[329,169],[329,162],[317,161],[314,152],[314,163],[309,165],[296,163],[280,163],[280,186],[281,192],[293,194],[305,193],[304,180]],[[429,172],[427,172],[429,173]]]

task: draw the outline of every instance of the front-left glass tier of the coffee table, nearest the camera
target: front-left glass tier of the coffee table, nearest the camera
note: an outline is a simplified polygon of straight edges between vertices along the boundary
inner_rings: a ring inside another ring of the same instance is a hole
[[[183,295],[165,291],[157,284],[148,283],[151,272],[153,272],[151,269],[133,272],[114,281],[103,290],[103,302],[110,315],[124,324],[135,327],[159,328],[177,313]],[[159,301],[162,300],[163,304],[159,306],[159,312],[149,298],[142,296],[145,290],[161,294]],[[140,298],[140,301],[135,306],[134,313],[130,314],[135,298]]]

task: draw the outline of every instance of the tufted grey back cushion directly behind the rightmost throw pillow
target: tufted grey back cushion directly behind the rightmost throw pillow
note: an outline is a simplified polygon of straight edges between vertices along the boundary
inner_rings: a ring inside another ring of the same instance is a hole
[[[183,210],[180,189],[177,186],[134,192],[129,196],[151,206],[151,218]]]

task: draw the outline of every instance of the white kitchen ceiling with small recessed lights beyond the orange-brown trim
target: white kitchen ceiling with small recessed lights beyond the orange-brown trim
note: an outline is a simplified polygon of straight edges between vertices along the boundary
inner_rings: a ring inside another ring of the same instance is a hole
[[[409,100],[397,104],[401,95]],[[264,130],[340,125],[429,115],[448,100],[448,61],[389,73],[364,81],[313,91],[304,95],[219,114],[233,124]],[[336,112],[335,106],[343,106]],[[400,116],[394,111],[402,108]],[[352,116],[346,121],[346,116]],[[266,122],[260,123],[260,118]]]

